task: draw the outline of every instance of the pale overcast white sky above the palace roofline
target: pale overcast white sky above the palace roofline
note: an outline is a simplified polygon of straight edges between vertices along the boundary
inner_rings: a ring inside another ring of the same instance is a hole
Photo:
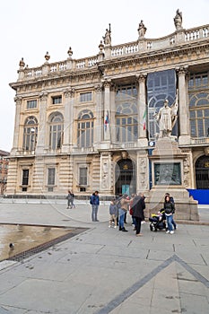
[[[10,0],[1,1],[0,150],[13,147],[15,91],[21,58],[29,67],[99,53],[100,40],[111,24],[112,46],[138,39],[141,20],[145,38],[157,39],[175,31],[173,18],[182,12],[185,29],[209,24],[209,0]]]

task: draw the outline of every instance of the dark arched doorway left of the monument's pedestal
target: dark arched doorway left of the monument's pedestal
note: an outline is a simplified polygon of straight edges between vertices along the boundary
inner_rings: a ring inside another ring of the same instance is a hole
[[[117,162],[115,170],[115,194],[135,193],[135,163],[130,159],[121,159]]]

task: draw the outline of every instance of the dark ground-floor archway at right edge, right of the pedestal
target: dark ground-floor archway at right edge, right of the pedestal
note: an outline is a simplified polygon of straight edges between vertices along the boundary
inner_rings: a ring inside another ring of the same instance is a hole
[[[209,189],[209,156],[196,161],[196,189]]]

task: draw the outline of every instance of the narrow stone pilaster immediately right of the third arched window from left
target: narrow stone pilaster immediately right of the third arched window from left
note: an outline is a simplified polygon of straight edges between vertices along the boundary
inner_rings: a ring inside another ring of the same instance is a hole
[[[102,120],[102,107],[101,107],[101,93],[102,88],[100,85],[95,86],[95,93],[96,93],[96,108],[95,108],[95,122],[94,122],[94,143],[95,148],[98,147],[102,140],[102,130],[104,126],[104,121]]]

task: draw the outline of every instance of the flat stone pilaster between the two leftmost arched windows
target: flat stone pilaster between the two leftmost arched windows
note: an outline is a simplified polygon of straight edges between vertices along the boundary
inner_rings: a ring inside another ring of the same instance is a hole
[[[48,148],[47,131],[47,106],[48,106],[48,92],[43,92],[39,95],[39,128],[37,137],[37,154],[43,154],[44,150]]]

